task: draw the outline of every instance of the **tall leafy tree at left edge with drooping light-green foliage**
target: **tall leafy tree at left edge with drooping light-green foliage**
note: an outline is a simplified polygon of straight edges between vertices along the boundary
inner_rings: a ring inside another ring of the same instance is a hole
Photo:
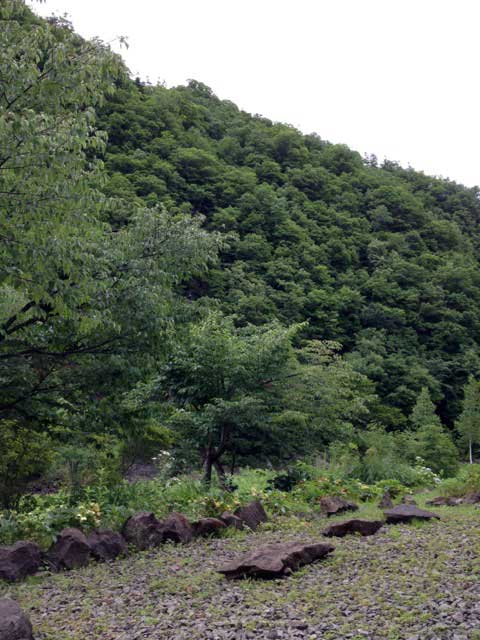
[[[202,219],[100,191],[106,136],[95,110],[126,72],[63,20],[0,5],[0,498],[38,475],[52,443],[166,440],[121,397],[194,314],[176,289],[215,256]],[[112,211],[129,225],[115,228]],[[178,329],[179,331],[179,329]],[[27,435],[25,437],[26,433]],[[12,435],[13,434],[13,435]],[[105,442],[104,442],[105,444]],[[106,448],[105,446],[103,447]],[[20,452],[20,449],[22,450]],[[18,459],[18,468],[12,460]],[[10,488],[9,486],[10,485]],[[5,496],[5,497],[4,497]]]

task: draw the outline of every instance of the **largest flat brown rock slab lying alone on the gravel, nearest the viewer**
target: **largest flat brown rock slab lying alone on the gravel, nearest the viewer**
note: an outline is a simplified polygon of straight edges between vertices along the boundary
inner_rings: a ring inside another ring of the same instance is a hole
[[[315,562],[334,550],[331,544],[287,542],[267,544],[232,560],[219,573],[227,578],[279,578]]]

